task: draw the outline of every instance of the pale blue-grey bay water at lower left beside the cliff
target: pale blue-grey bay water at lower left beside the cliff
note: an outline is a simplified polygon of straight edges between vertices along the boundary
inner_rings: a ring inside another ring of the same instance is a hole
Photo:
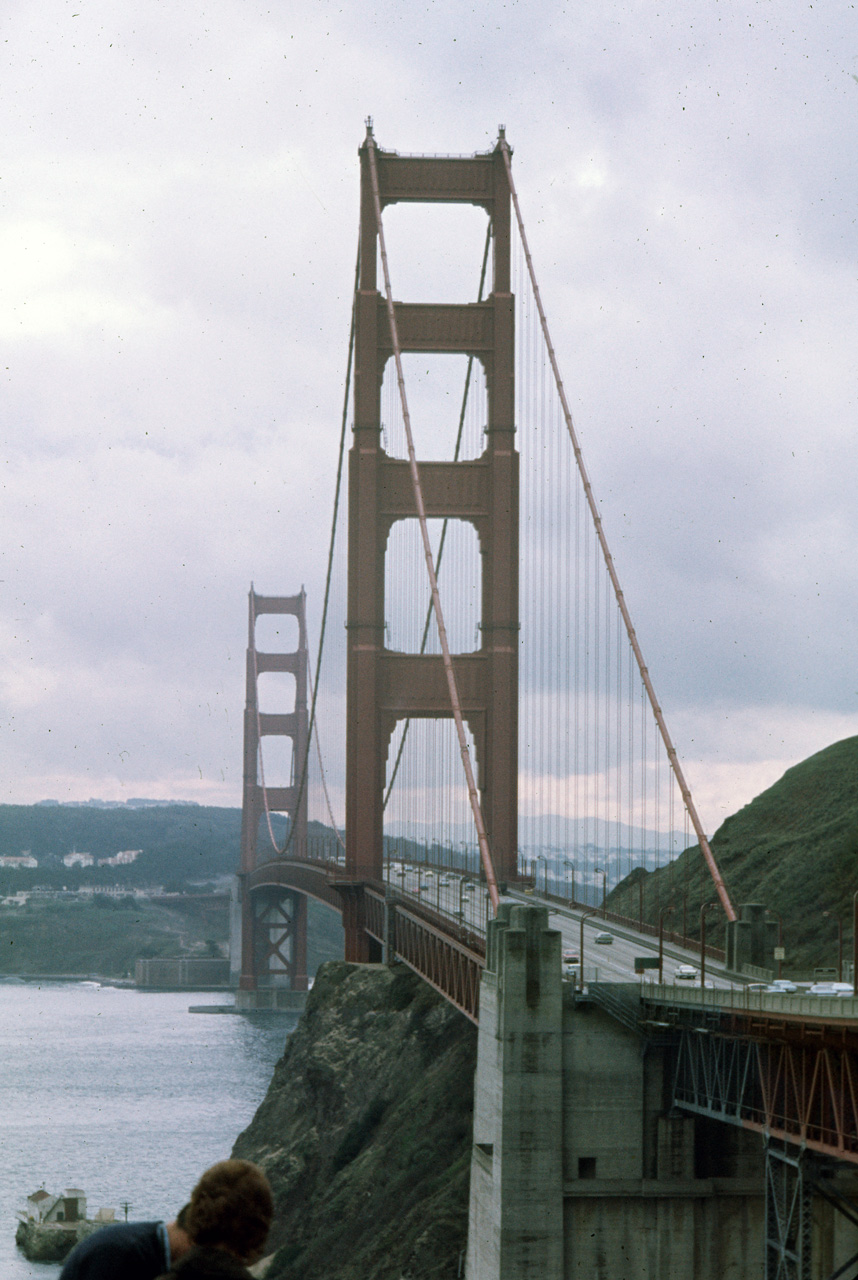
[[[223,993],[0,982],[0,1277],[55,1280],[15,1247],[15,1211],[78,1187],[136,1220],[172,1219],[229,1156],[295,1028],[289,1014],[192,1014]]]

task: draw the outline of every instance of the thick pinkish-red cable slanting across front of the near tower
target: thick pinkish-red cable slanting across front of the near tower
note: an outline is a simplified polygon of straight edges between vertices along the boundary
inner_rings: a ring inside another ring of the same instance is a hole
[[[405,425],[405,434],[409,445],[409,467],[411,470],[411,484],[414,488],[414,500],[417,508],[417,520],[420,522],[420,536],[423,539],[423,553],[426,562],[426,573],[429,575],[429,586],[432,589],[432,604],[435,614],[435,625],[438,627],[438,639],[441,641],[441,652],[444,664],[444,673],[447,676],[447,687],[449,690],[449,703],[453,712],[453,719],[456,722],[456,733],[458,737],[458,750],[462,758],[462,767],[465,769],[465,778],[467,781],[467,795],[471,804],[471,813],[474,814],[474,826],[476,827],[476,837],[480,846],[480,858],[483,861],[483,869],[485,872],[485,883],[488,887],[489,897],[492,900],[492,906],[497,913],[499,895],[497,887],[497,878],[494,876],[494,865],[492,863],[492,852],[489,850],[489,841],[485,833],[485,823],[483,822],[483,812],[480,809],[480,800],[476,791],[476,781],[474,778],[474,768],[471,765],[470,749],[467,746],[467,739],[465,736],[465,719],[462,717],[462,707],[458,698],[458,685],[456,682],[456,672],[453,671],[453,660],[449,655],[449,643],[447,640],[447,627],[444,625],[444,614],[441,608],[441,595],[438,593],[438,577],[435,575],[435,562],[432,553],[432,543],[429,540],[429,526],[426,524],[426,508],[423,500],[423,486],[420,484],[420,471],[417,470],[417,458],[414,449],[414,435],[411,431],[411,415],[409,413],[409,401],[405,393],[405,376],[402,372],[402,349],[400,347],[400,333],[396,323],[396,307],[393,305],[393,292],[391,289],[391,273],[387,262],[387,247],[384,243],[384,228],[382,225],[382,200],[378,188],[378,170],[375,165],[375,138],[371,132],[368,132],[366,137],[366,151],[369,156],[370,177],[373,180],[373,201],[375,204],[375,224],[378,229],[378,242],[382,253],[382,269],[384,271],[384,296],[387,302],[387,315],[391,325],[391,343],[393,346],[393,360],[396,362],[396,379],[400,388],[400,401],[402,403],[402,419]]]

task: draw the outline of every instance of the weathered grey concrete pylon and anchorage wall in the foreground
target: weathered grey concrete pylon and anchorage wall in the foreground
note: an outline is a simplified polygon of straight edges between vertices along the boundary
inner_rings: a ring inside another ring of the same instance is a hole
[[[668,1068],[668,1044],[562,982],[544,908],[502,904],[480,988],[469,1280],[761,1280],[762,1143],[672,1110]]]

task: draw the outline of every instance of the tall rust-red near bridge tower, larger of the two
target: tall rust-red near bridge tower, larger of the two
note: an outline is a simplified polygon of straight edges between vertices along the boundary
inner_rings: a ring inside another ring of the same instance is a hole
[[[384,644],[384,558],[397,520],[416,520],[407,461],[382,447],[382,380],[393,355],[378,289],[380,206],[471,204],[493,236],[493,288],[483,302],[396,303],[403,353],[462,353],[482,362],[488,392],[482,457],[419,466],[426,516],[469,521],[479,538],[482,626],[476,652],[455,658],[462,713],[474,736],[483,815],[498,879],[517,874],[519,456],[515,448],[510,183],[503,152],[400,156],[360,151],[360,279],[355,308],[355,421],[348,470],[348,660],[346,727],[346,956],[375,959],[362,928],[361,884],[382,881],[383,786],[397,721],[452,718],[443,659]],[[476,273],[475,273],[476,275]],[[428,590],[428,584],[426,584]]]

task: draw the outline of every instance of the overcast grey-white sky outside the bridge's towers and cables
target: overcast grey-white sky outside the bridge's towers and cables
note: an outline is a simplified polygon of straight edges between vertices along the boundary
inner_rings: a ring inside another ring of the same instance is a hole
[[[0,40],[1,801],[241,804],[248,585],[321,593],[368,114],[506,124],[704,824],[858,732],[852,3],[6,0]]]

